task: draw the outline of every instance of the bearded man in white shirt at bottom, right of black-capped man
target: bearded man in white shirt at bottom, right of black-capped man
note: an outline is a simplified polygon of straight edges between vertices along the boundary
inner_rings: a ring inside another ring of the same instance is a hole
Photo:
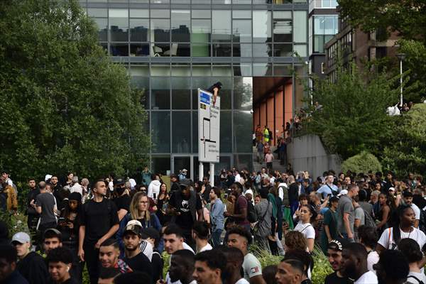
[[[354,284],[377,284],[377,276],[367,267],[368,253],[359,243],[348,244],[342,252],[342,274],[354,279]]]

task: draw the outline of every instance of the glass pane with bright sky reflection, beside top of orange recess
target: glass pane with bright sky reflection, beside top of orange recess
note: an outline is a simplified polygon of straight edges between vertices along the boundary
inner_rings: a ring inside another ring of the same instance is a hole
[[[249,111],[253,107],[253,78],[234,77],[234,109]]]

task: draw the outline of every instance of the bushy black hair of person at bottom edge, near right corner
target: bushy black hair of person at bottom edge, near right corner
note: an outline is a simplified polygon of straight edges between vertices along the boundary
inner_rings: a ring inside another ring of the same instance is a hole
[[[386,278],[405,281],[410,272],[410,266],[408,265],[407,258],[401,251],[388,249],[383,251],[379,257],[376,266],[380,266],[380,269],[386,272]],[[386,279],[383,279],[383,283],[385,281]]]

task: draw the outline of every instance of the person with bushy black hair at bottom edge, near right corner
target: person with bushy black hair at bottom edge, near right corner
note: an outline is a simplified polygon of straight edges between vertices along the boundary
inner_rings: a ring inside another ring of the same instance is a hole
[[[378,284],[403,284],[410,272],[407,258],[396,250],[383,251],[373,268],[377,273]]]

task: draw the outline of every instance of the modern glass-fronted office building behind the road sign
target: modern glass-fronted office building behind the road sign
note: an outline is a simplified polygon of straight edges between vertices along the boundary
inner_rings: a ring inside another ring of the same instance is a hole
[[[99,44],[144,89],[151,170],[198,175],[197,88],[220,81],[221,168],[252,168],[256,124],[302,106],[306,0],[84,0]],[[295,53],[301,59],[295,56]],[[297,75],[297,77],[296,77]],[[204,166],[208,169],[207,166]]]

